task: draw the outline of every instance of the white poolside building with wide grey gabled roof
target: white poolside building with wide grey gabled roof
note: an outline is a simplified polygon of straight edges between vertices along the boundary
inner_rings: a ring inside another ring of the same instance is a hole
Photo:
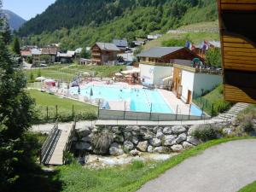
[[[155,47],[137,55],[141,71],[141,82],[153,84],[171,90],[172,60],[194,60],[200,58],[194,52],[183,47]],[[200,58],[201,61],[203,59]]]

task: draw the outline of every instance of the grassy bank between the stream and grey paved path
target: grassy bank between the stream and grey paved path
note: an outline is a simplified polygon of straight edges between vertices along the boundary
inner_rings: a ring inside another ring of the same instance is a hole
[[[143,164],[134,162],[128,166],[116,166],[99,170],[90,170],[82,166],[71,165],[59,167],[57,170],[59,171],[61,183],[63,183],[63,192],[136,191],[144,183],[159,177],[160,174],[163,174],[173,166],[177,166],[183,160],[201,154],[205,149],[214,145],[238,139],[242,138],[223,138],[203,143],[161,163]]]

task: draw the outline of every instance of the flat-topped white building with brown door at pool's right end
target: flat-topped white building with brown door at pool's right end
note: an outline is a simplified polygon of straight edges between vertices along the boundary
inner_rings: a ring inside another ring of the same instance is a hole
[[[190,60],[173,60],[172,91],[187,104],[222,83],[221,70],[191,65]]]

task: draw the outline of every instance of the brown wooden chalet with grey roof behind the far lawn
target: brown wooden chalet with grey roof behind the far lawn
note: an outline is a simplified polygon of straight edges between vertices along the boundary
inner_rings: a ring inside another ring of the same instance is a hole
[[[119,52],[115,44],[96,43],[91,47],[91,62],[96,65],[114,65]]]

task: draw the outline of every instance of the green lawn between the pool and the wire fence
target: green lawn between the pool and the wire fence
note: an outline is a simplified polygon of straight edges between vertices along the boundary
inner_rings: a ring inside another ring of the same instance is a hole
[[[95,119],[97,108],[95,106],[76,102],[70,99],[61,98],[58,96],[50,95],[48,93],[43,93],[38,90],[29,90],[30,96],[35,99],[36,109],[38,111],[39,121],[47,120],[47,107],[49,109],[48,119],[53,120],[56,118],[56,108],[57,105],[57,115],[60,121],[68,121],[73,119],[73,115],[78,119]],[[74,113],[73,113],[74,108]]]

